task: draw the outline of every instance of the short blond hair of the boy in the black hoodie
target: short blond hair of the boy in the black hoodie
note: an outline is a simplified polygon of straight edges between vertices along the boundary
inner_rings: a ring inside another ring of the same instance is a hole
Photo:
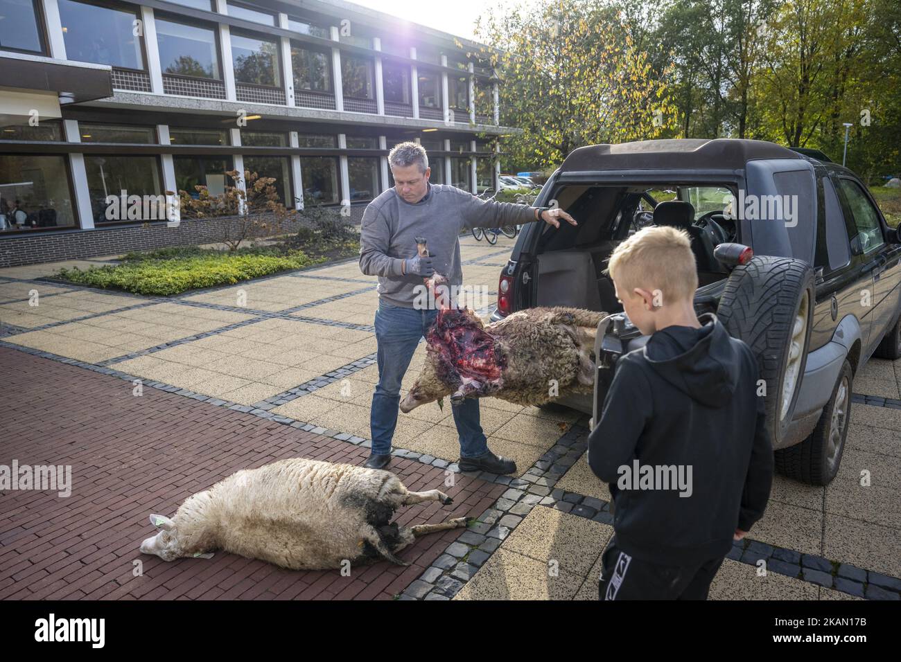
[[[697,289],[695,254],[687,231],[654,225],[635,232],[614,249],[607,273],[621,296],[640,287],[660,290],[663,304],[691,300]]]

